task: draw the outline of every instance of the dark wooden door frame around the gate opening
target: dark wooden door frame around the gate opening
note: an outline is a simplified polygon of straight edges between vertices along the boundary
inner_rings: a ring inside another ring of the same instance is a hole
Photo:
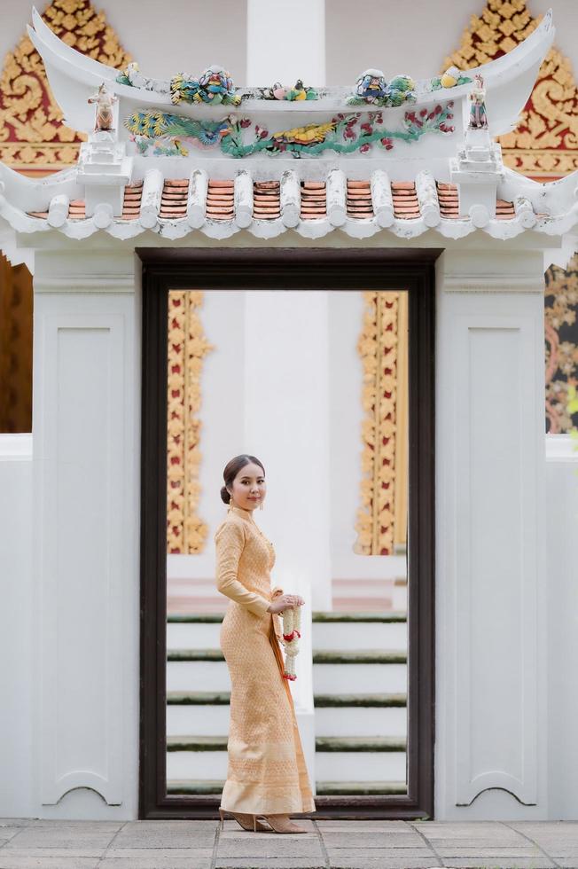
[[[143,262],[139,818],[216,818],[166,793],[167,317],[171,289],[407,290],[408,794],[316,797],[315,818],[433,818],[434,262],[440,249],[137,248]]]

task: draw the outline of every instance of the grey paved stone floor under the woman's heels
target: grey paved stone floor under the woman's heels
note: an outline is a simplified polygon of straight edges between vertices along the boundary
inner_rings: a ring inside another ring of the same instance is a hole
[[[0,869],[578,869],[577,821],[307,819],[307,834],[246,833],[234,820],[0,818]]]

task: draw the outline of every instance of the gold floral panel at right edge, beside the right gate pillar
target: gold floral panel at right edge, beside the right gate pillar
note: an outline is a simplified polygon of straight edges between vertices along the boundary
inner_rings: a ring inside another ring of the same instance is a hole
[[[578,426],[568,411],[568,387],[578,386],[578,254],[566,270],[546,271],[546,431],[567,434]]]

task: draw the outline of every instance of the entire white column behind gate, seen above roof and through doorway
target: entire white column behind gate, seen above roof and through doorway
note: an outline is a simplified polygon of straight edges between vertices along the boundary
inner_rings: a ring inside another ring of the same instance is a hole
[[[249,87],[324,84],[324,0],[247,0],[246,39]],[[276,547],[273,583],[307,601],[292,691],[315,791],[311,609],[331,608],[327,294],[247,292],[245,322],[246,450],[270,487],[257,519]]]

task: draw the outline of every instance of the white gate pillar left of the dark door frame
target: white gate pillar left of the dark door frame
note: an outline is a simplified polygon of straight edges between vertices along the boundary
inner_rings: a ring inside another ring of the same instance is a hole
[[[135,258],[39,251],[34,322],[35,816],[136,818]]]

